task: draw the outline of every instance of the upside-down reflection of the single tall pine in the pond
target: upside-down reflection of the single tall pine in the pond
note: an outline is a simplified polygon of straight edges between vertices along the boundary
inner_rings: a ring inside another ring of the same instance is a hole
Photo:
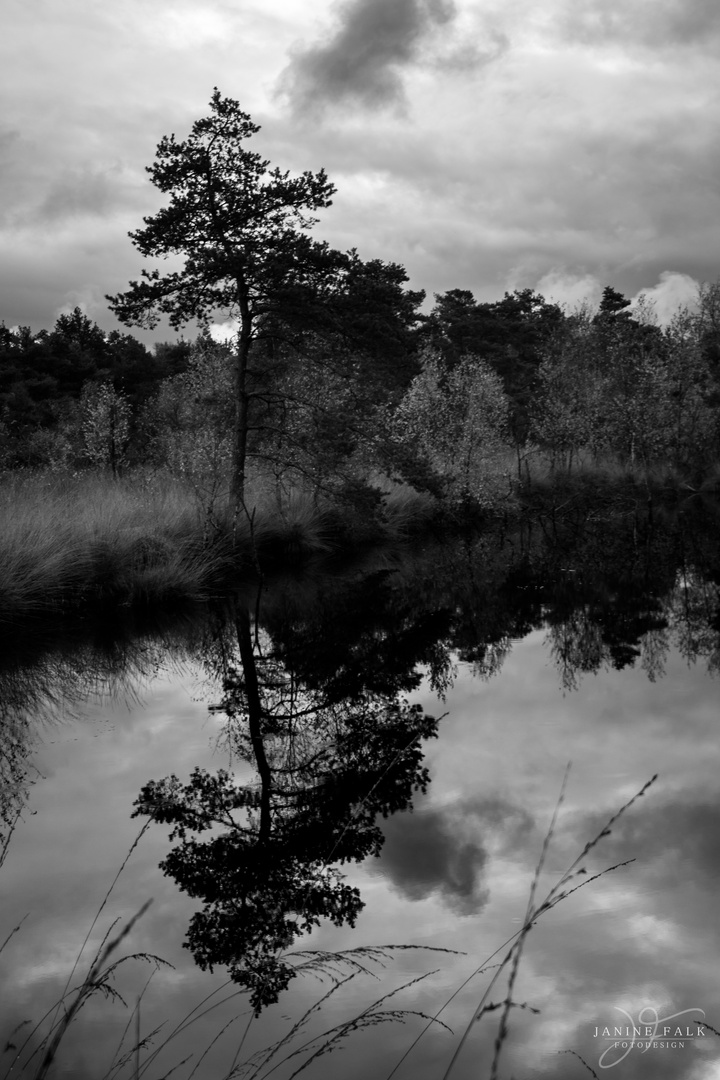
[[[363,901],[338,865],[378,854],[378,816],[425,789],[421,740],[437,724],[396,694],[309,688],[247,610],[233,623],[235,657],[227,638],[219,643],[226,670],[215,710],[257,777],[237,783],[196,769],[188,784],[150,781],[135,813],[172,824],[180,841],[161,867],[203,901],[186,943],[196,962],[227,966],[259,1012],[295,976],[284,954],[300,934],[324,919],[354,924]]]

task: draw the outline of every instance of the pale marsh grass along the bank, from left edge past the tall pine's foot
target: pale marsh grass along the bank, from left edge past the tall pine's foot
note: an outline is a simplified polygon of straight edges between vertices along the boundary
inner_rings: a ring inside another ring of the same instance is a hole
[[[0,623],[89,608],[204,603],[240,580],[402,542],[434,513],[389,483],[372,519],[257,477],[236,522],[165,475],[14,472],[0,478]]]

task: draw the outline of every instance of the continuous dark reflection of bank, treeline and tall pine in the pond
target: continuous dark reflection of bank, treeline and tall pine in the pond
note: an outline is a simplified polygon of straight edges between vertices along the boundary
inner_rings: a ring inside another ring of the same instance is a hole
[[[338,867],[377,853],[380,816],[427,783],[421,740],[436,725],[403,696],[426,678],[441,697],[460,664],[493,677],[531,631],[568,689],[602,669],[660,677],[671,648],[718,671],[719,522],[707,500],[661,513],[570,491],[479,535],[286,577],[254,617],[248,597],[186,624],[98,617],[57,638],[43,624],[30,645],[0,626],[0,843],[45,702],[124,694],[172,657],[209,663],[253,779],[152,781],[137,808],[180,841],[163,865],[204,905],[188,940],[198,961],[228,964],[259,1008],[293,977],[282,953],[300,934],[353,922],[362,900]]]

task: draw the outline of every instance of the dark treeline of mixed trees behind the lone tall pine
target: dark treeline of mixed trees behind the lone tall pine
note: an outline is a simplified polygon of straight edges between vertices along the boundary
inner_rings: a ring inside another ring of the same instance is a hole
[[[720,285],[660,327],[613,288],[567,313],[532,289],[430,314],[384,264],[359,264],[325,333],[254,347],[250,462],[280,488],[372,498],[372,478],[493,498],[542,458],[701,478],[720,459]],[[231,345],[147,349],[76,308],[52,330],[0,326],[0,464],[119,472],[150,464],[222,497],[231,462]]]

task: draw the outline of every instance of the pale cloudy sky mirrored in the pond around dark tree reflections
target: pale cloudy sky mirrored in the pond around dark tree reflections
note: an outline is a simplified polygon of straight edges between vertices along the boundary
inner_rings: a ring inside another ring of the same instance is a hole
[[[35,762],[44,779],[31,788],[28,812],[2,868],[1,939],[28,913],[0,958],[3,1036],[22,1020],[41,1015],[62,991],[137,836],[139,823],[130,814],[142,784],[171,771],[186,778],[199,764],[210,769],[226,764],[215,750],[220,724],[207,713],[210,700],[213,693],[207,687],[203,691],[198,674],[188,670],[158,677],[141,702],[91,703],[81,718],[42,731]],[[437,715],[437,700],[426,686],[412,700]],[[626,669],[586,675],[569,692],[551,660],[545,633],[535,632],[514,644],[500,673],[487,681],[461,663],[445,708],[439,739],[425,744],[432,777],[427,794],[416,798],[412,813],[397,813],[384,824],[386,843],[379,860],[345,867],[366,901],[356,929],[323,926],[298,945],[417,944],[467,955],[400,953],[381,983],[357,980],[342,998],[331,999],[323,1024],[437,968],[436,975],[397,999],[432,1014],[517,931],[572,760],[539,896],[624,801],[654,772],[660,779],[583,865],[589,876],[636,861],[581,889],[529,934],[515,1000],[541,1012],[513,1011],[501,1075],[569,1080],[582,1069],[576,1057],[561,1053],[570,1050],[597,1069],[604,1047],[594,1032],[616,1022],[617,1007],[633,1015],[646,1005],[665,1015],[698,1008],[720,1027],[715,978],[720,745],[717,684],[702,664],[688,665],[671,652],[666,675],[656,683]],[[153,975],[142,1000],[144,1031],[186,1015],[226,977],[199,971],[180,947],[196,904],[160,874],[158,863],[166,853],[167,829],[152,826],[92,935],[96,943],[113,918],[128,918],[153,897],[123,945],[177,968]],[[119,974],[127,1000],[140,993],[150,971],[140,962]],[[439,1027],[427,1031],[398,1077],[435,1080],[443,1075],[488,977],[475,978],[443,1013],[456,1035]],[[297,981],[253,1024],[243,1056],[286,1030],[284,1017],[296,1016],[321,993],[318,984]],[[503,996],[501,984],[492,1000]],[[81,1080],[103,1076],[128,1016],[120,1005],[99,1001],[85,1013],[63,1052],[65,1075]],[[199,1056],[231,1015],[226,1007],[204,1017],[172,1047],[163,1067],[191,1051]],[[453,1077],[488,1074],[497,1015],[475,1026]],[[228,1067],[234,1054],[229,1048],[236,1048],[245,1023],[228,1029],[195,1076],[209,1080],[218,1076],[218,1062]],[[419,1029],[417,1022],[358,1032],[341,1063],[332,1055],[321,1058],[310,1075],[330,1077],[341,1067],[358,1080],[385,1076]],[[688,1042],[684,1050],[635,1050],[614,1076],[695,1080],[717,1076],[717,1062],[714,1037],[708,1037]]]

